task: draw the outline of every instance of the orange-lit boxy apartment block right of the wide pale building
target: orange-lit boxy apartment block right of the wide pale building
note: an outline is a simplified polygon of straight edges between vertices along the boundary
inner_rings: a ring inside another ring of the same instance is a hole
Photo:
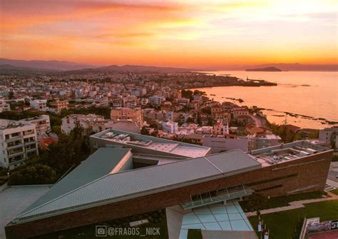
[[[131,120],[143,127],[143,113],[140,108],[113,108],[111,110],[111,119],[113,121]]]

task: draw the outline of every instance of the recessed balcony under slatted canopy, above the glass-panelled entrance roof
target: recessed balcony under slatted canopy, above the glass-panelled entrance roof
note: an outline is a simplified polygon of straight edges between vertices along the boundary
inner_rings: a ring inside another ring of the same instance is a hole
[[[244,186],[242,190],[229,191],[227,189],[221,191],[213,191],[208,193],[200,193],[197,198],[191,200],[187,203],[182,203],[183,209],[198,208],[203,205],[209,205],[213,203],[220,203],[225,200],[232,200],[235,198],[242,198],[246,195],[251,195],[254,192],[252,189],[245,189]]]

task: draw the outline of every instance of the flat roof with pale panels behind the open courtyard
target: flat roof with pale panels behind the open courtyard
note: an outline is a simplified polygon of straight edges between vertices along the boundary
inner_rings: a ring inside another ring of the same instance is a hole
[[[152,136],[144,136],[138,133],[127,131],[118,131],[108,129],[100,133],[96,133],[92,138],[101,138],[112,143],[120,143],[126,145],[126,148],[140,147],[153,151],[171,153],[177,156],[185,156],[188,158],[198,158],[207,155],[210,152],[209,147],[198,146],[190,143],[182,143],[179,141],[170,141],[164,138]]]

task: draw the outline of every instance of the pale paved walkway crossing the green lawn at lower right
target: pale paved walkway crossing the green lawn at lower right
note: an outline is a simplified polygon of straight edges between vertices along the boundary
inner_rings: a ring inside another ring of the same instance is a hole
[[[290,205],[287,205],[285,207],[280,207],[280,208],[270,208],[270,209],[265,209],[261,210],[260,214],[268,214],[268,213],[277,213],[281,212],[283,210],[292,210],[292,209],[297,209],[297,208],[304,208],[307,203],[319,203],[322,201],[326,200],[338,200],[338,195],[335,195],[334,193],[327,192],[327,195],[330,196],[330,198],[315,198],[315,199],[308,199],[308,200],[297,200],[290,202]],[[251,217],[253,215],[257,215],[257,212],[250,212],[250,213],[245,213],[247,217]]]

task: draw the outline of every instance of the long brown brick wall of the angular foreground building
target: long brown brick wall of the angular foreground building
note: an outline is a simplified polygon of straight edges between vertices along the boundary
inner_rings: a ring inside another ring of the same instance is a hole
[[[146,213],[158,210],[190,200],[190,194],[203,193],[208,190],[230,188],[236,185],[257,183],[272,178],[294,175],[280,180],[272,180],[266,183],[252,185],[253,190],[262,190],[262,193],[270,196],[285,195],[292,190],[299,190],[297,193],[323,190],[331,163],[332,151],[318,153],[312,156],[300,158],[297,161],[287,161],[275,166],[260,168],[255,171],[227,176],[217,180],[210,180],[205,183],[176,188],[151,195],[144,195],[139,198],[123,200],[117,203],[96,206],[72,213],[56,215],[49,218],[34,220],[27,223],[9,224],[6,226],[6,236],[12,238],[26,238],[34,235],[41,235],[77,228],[82,225],[100,223],[115,218],[123,218],[138,213]],[[276,185],[280,187],[272,188]],[[307,188],[312,186],[312,188]],[[271,188],[264,190],[265,188]]]

